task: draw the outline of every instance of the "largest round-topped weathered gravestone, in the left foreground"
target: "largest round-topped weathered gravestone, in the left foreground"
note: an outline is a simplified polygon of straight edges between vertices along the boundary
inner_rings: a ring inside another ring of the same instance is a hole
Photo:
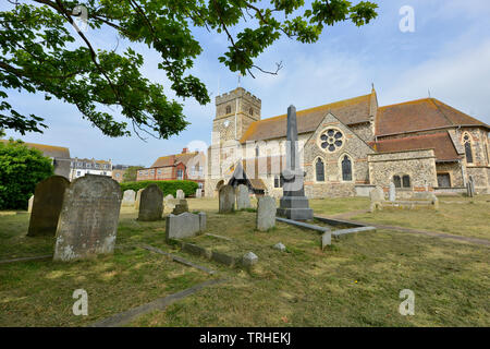
[[[117,181],[86,174],[65,190],[54,261],[85,260],[114,251],[122,193]]]

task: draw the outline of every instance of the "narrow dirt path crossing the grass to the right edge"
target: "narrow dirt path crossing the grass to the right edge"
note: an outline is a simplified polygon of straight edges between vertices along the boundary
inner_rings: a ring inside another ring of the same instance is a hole
[[[375,224],[375,222],[366,222],[366,221],[359,221],[359,220],[348,220],[348,218],[351,217],[355,217],[365,213],[368,213],[369,210],[366,209],[358,209],[358,210],[352,210],[352,212],[346,212],[346,213],[342,213],[342,214],[338,214],[338,215],[333,215],[333,216],[324,216],[326,218],[338,218],[338,219],[343,219],[346,221],[352,221],[352,222],[356,222],[356,224],[362,224],[362,225],[366,225],[366,226],[372,226],[379,229],[389,229],[389,230],[397,230],[397,231],[403,231],[403,232],[411,232],[411,233],[419,233],[419,234],[424,234],[424,236],[429,236],[429,237],[436,237],[436,238],[441,238],[441,239],[453,239],[453,240],[460,240],[460,241],[465,241],[465,242],[470,242],[470,243],[476,243],[476,244],[481,244],[481,245],[490,245],[490,240],[487,239],[479,239],[479,238],[470,238],[470,237],[461,237],[461,236],[455,236],[452,233],[446,233],[446,232],[442,232],[442,231],[430,231],[430,230],[420,230],[420,229],[413,229],[413,228],[406,228],[406,227],[399,227],[399,226],[387,226],[387,225],[380,225],[380,224]],[[319,215],[321,216],[321,215]]]

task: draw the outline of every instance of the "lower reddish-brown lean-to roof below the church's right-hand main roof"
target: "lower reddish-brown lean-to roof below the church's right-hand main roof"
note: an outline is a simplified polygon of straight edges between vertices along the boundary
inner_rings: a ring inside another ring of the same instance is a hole
[[[369,145],[379,153],[392,153],[402,151],[433,149],[437,160],[457,160],[454,143],[449,132],[407,136],[403,139],[381,140],[370,142]]]

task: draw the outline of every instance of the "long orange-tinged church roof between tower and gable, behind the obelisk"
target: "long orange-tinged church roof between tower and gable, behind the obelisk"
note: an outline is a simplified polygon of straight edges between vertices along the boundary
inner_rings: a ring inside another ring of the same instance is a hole
[[[323,120],[327,112],[332,112],[345,124],[369,120],[369,95],[330,103],[323,106],[296,111],[297,133],[313,132]],[[287,115],[255,121],[244,133],[241,143],[286,136]]]

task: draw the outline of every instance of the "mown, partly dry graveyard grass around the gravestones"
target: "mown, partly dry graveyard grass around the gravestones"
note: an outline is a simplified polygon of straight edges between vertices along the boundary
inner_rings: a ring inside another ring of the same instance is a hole
[[[313,200],[315,214],[352,213],[348,219],[443,231],[490,240],[490,196],[442,197],[441,209],[364,213],[369,200]],[[451,203],[458,202],[458,204]],[[320,236],[285,224],[256,231],[253,209],[218,214],[218,201],[188,200],[208,213],[208,236],[187,239],[241,256],[253,251],[248,273],[183,253],[164,242],[164,220],[136,221],[121,213],[113,256],[94,261],[0,264],[0,326],[86,326],[211,278],[200,290],[130,326],[489,326],[489,246],[407,232],[351,236],[324,251]],[[255,203],[253,203],[255,207]],[[0,216],[0,260],[51,254],[53,238],[27,238],[28,215]],[[285,252],[271,246],[282,242]],[[150,244],[217,270],[209,276],[140,249]],[[88,292],[88,316],[74,316],[75,289]],[[402,289],[415,292],[415,315],[402,316]]]

